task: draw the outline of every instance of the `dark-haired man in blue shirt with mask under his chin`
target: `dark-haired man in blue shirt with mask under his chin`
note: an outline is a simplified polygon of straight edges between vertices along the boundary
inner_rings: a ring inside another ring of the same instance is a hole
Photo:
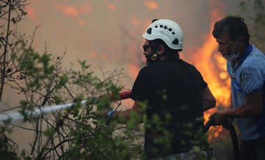
[[[236,118],[241,136],[241,159],[265,159],[265,56],[250,45],[243,18],[216,22],[213,37],[227,59],[231,77],[231,109],[213,113],[216,125]]]

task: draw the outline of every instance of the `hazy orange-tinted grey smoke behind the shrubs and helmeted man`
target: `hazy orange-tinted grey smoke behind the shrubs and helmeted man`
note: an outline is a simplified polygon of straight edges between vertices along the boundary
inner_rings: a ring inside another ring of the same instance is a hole
[[[234,10],[231,3],[237,3],[222,2],[224,6],[218,7],[224,13]],[[17,29],[31,38],[35,27],[40,25],[33,40],[34,49],[42,53],[47,47],[54,55],[66,51],[64,67],[73,63],[74,69],[78,69],[78,60],[87,61],[99,77],[100,67],[103,70],[124,68],[124,85],[130,89],[137,72],[145,64],[142,33],[152,19],[172,19],[181,26],[184,34],[181,57],[190,61],[195,51],[204,45],[205,35],[211,29],[211,8],[216,5],[219,4],[205,0],[29,0],[29,15]],[[0,109],[17,105],[20,99],[15,95],[6,92]],[[29,141],[22,138],[21,130],[16,129],[13,136],[18,143],[22,142],[23,149],[29,149],[31,137]]]

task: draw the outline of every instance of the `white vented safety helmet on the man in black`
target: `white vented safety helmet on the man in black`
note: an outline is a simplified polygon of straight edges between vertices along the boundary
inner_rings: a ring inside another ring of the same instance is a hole
[[[179,24],[169,19],[158,19],[151,23],[144,34],[146,40],[163,40],[171,49],[183,49],[183,32]]]

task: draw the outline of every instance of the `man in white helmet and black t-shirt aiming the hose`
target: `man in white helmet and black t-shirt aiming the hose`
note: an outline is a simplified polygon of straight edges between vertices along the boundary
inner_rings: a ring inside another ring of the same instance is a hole
[[[215,98],[199,71],[179,58],[183,32],[176,22],[158,19],[143,37],[147,65],[132,87],[135,103],[132,109],[108,115],[128,119],[131,111],[145,114],[146,156],[181,157],[202,143],[203,111],[215,106]]]

